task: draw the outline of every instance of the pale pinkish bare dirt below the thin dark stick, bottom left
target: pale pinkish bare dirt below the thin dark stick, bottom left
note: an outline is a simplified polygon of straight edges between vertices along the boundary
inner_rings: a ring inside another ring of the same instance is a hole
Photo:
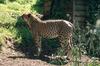
[[[55,66],[39,59],[9,58],[9,54],[0,54],[0,66]]]

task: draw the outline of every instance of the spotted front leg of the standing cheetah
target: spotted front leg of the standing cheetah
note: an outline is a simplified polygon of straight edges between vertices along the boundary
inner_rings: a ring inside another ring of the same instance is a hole
[[[41,54],[41,37],[36,35],[34,38],[35,46],[36,46],[36,56],[40,56]]]

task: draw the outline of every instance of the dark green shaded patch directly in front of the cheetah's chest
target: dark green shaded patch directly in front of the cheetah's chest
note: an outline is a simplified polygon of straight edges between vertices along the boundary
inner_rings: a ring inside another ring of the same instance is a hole
[[[17,36],[21,37],[21,43],[17,44],[17,51],[24,53],[26,56],[32,56],[34,44],[28,26],[24,23],[21,17],[18,17],[15,28]]]

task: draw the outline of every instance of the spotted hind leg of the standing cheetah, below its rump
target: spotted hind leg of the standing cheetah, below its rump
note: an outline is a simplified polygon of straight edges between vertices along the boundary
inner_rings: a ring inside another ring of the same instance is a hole
[[[71,44],[70,44],[70,38],[68,37],[65,37],[65,36],[59,36],[59,41],[60,41],[60,45],[61,45],[61,48],[64,50],[64,56],[66,55],[67,56],[67,59],[66,60],[71,60]]]

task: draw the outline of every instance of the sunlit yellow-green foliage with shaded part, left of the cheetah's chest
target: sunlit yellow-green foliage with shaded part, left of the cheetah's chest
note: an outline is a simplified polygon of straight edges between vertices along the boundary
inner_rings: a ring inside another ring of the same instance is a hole
[[[36,4],[37,0],[9,0],[5,4],[4,0],[1,1],[0,47],[5,42],[5,36],[13,37],[15,43],[19,45],[24,44],[25,46],[27,43],[32,44],[31,34],[20,16],[23,13],[32,12],[32,6]],[[36,10],[33,10],[33,12],[36,12]]]

